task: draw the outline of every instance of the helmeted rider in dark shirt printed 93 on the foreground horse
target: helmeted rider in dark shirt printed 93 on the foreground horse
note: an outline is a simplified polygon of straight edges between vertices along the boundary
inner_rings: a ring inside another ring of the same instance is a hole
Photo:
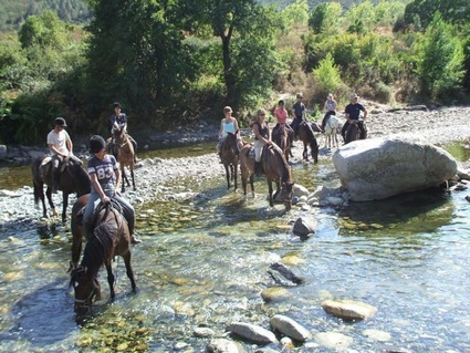
[[[140,242],[140,239],[135,235],[135,210],[134,207],[118,194],[122,183],[119,164],[113,155],[106,154],[106,142],[100,135],[94,135],[90,138],[90,152],[93,157],[88,159],[88,175],[92,180],[92,191],[90,200],[83,215],[83,231],[86,238],[92,235],[93,211],[102,201],[109,203],[111,198],[119,203],[123,207],[123,215],[127,220],[130,232],[132,243]]]

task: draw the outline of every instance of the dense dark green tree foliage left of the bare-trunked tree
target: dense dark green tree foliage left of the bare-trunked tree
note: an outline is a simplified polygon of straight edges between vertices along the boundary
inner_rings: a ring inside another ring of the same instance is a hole
[[[93,1],[90,25],[90,103],[94,114],[114,101],[143,115],[185,95],[191,80],[176,1]]]

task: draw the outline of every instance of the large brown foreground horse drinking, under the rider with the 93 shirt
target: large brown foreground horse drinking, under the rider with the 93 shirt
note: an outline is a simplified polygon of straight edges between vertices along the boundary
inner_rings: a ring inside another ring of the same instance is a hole
[[[93,236],[87,239],[83,259],[77,264],[82,250],[83,230],[79,225],[80,210],[88,203],[90,195],[80,197],[72,209],[72,263],[70,285],[75,291],[74,310],[79,315],[86,314],[95,300],[101,300],[98,270],[104,264],[107,271],[111,299],[115,298],[115,276],[111,261],[121,256],[126,266],[133,292],[137,291],[130,264],[130,233],[117,203],[100,204],[93,219]]]

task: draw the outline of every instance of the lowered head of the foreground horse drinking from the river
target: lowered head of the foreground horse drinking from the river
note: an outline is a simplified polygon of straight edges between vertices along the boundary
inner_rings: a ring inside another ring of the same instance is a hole
[[[95,300],[101,300],[101,285],[96,277],[86,267],[77,266],[71,271],[70,287],[75,292],[74,311],[86,314]]]

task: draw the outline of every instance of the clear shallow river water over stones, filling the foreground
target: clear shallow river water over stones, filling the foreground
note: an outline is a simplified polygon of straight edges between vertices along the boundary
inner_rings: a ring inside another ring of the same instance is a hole
[[[295,165],[293,174],[309,189],[337,186],[330,159]],[[116,301],[100,302],[80,323],[65,272],[69,226],[38,220],[2,229],[0,352],[203,352],[210,339],[196,336],[195,328],[208,326],[216,336],[234,321],[269,329],[278,313],[313,335],[335,332],[353,340],[348,347],[328,349],[313,339],[293,352],[470,352],[466,191],[304,211],[315,215],[318,227],[301,240],[291,229],[302,212],[267,207],[262,179],[247,201],[240,191],[227,193],[222,175],[181,184],[200,196],[137,208],[144,240],[133,247],[138,294],[130,293],[119,259]],[[276,261],[305,283],[285,287],[288,297],[264,303],[260,293],[276,285],[268,272]],[[323,311],[325,299],[353,299],[378,311],[363,322],[343,322]],[[241,344],[247,352],[257,349]]]

